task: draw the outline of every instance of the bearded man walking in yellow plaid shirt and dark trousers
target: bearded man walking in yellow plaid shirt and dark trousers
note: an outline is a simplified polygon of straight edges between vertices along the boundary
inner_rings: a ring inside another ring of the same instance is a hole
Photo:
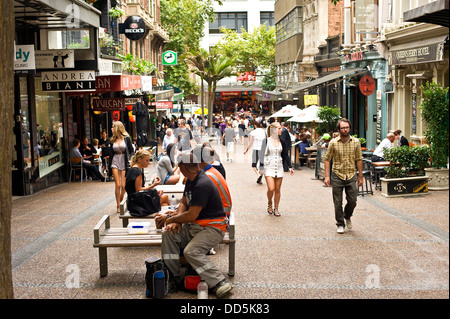
[[[352,228],[351,217],[356,207],[358,186],[363,184],[362,152],[359,139],[350,135],[351,124],[348,119],[342,118],[337,123],[339,136],[331,140],[327,154],[324,158],[326,186],[330,186],[330,162],[333,160],[331,172],[331,186],[333,188],[334,214],[337,232],[343,234],[345,226]],[[359,176],[356,175],[356,166]],[[358,186],[356,185],[358,181]],[[342,210],[342,195],[345,189],[347,204]]]

